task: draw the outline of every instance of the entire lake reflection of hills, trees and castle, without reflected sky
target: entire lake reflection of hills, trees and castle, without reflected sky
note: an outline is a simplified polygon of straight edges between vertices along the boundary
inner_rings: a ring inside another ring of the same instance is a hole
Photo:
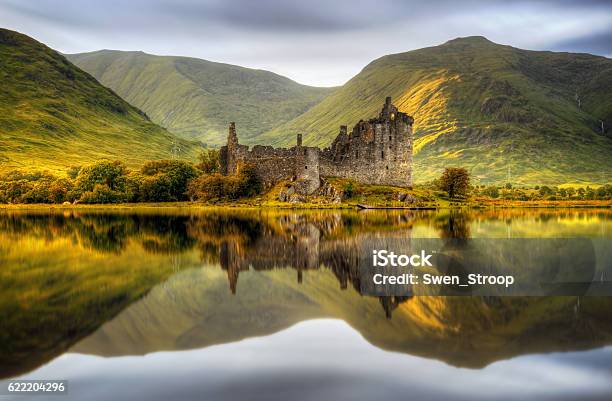
[[[1,214],[0,375],[60,355],[105,322],[76,349],[121,355],[202,347],[313,317],[343,319],[379,347],[469,366],[609,343],[605,299],[583,299],[575,312],[575,298],[359,293],[356,257],[376,241],[409,241],[415,232],[497,236],[512,221],[520,222],[517,232],[571,232],[574,226],[588,236],[600,233],[600,223],[609,227],[610,213]],[[173,276],[202,265],[214,267]]]

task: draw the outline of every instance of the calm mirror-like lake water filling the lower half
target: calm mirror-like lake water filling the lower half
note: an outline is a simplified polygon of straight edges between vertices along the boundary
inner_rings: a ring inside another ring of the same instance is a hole
[[[0,212],[0,380],[96,401],[612,399],[612,297],[377,297],[355,270],[387,238],[540,237],[597,239],[591,273],[612,265],[611,210]]]

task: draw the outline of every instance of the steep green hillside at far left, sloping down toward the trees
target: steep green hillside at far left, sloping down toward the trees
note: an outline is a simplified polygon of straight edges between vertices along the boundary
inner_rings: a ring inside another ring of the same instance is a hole
[[[195,146],[153,124],[43,44],[0,29],[0,171],[49,169],[117,158],[135,166],[193,157]]]

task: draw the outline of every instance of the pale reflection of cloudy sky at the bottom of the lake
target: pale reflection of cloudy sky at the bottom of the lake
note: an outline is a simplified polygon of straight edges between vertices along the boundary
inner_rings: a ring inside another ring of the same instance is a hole
[[[576,363],[578,361],[578,363]],[[580,362],[582,361],[582,362]],[[594,361],[591,365],[589,361]],[[64,355],[27,378],[70,381],[69,399],[606,399],[612,349],[518,357],[481,370],[382,351],[338,320],[144,357]],[[110,391],[110,392],[109,392]]]

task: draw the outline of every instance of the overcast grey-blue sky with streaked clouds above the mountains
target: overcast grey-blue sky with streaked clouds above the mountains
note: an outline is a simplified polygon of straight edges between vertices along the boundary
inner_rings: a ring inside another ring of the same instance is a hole
[[[482,35],[612,55],[612,0],[0,0],[0,26],[64,53],[142,50],[341,85],[375,58]]]

